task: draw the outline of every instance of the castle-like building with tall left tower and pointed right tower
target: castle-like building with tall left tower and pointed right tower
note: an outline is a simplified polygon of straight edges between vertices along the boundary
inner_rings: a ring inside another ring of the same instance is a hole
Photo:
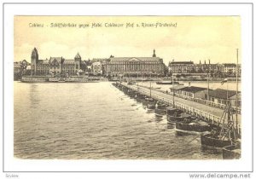
[[[86,66],[79,53],[74,59],[64,59],[61,56],[39,60],[36,48],[32,50],[31,65],[32,75],[79,75],[84,72]]]

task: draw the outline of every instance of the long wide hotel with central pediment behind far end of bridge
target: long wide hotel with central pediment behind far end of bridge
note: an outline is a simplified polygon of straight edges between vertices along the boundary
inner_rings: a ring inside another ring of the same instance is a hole
[[[106,61],[104,75],[113,77],[164,76],[166,66],[163,59],[156,57],[113,57]]]

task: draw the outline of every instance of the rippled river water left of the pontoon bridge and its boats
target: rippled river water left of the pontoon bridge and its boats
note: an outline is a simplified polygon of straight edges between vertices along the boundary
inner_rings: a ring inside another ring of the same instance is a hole
[[[16,158],[222,159],[173,127],[108,82],[15,82]]]

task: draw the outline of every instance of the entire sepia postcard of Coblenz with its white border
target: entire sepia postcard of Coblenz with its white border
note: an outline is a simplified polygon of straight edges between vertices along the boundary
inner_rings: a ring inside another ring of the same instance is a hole
[[[251,122],[243,20],[15,14],[13,159],[177,162],[180,170],[241,163]]]

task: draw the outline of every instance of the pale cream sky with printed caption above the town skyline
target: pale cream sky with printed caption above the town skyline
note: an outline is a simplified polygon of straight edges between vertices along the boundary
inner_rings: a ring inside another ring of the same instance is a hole
[[[123,26],[110,27],[112,23]],[[241,50],[239,16],[15,16],[14,33],[15,61],[30,62],[34,47],[41,60],[73,59],[78,52],[82,60],[149,57],[155,49],[166,65],[173,60],[236,63],[236,49]]]

